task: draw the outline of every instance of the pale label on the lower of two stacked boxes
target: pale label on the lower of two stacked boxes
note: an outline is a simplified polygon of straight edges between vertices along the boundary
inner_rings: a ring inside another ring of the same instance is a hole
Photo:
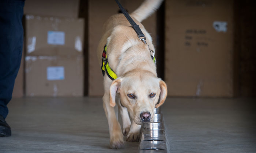
[[[65,72],[63,66],[47,67],[47,80],[64,80]]]

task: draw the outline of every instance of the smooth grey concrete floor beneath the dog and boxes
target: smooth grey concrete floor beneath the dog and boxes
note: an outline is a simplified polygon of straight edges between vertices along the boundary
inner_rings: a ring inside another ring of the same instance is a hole
[[[102,98],[12,99],[11,137],[0,153],[137,152],[109,149]],[[255,153],[256,99],[168,98],[162,107],[172,153]]]

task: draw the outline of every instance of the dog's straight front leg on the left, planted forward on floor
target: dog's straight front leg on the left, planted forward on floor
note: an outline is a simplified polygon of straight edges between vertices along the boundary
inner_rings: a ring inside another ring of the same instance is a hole
[[[114,107],[110,106],[110,96],[109,96],[109,87],[112,83],[112,80],[105,75],[104,77],[104,96],[103,96],[103,108],[106,113],[109,124],[109,134],[110,134],[110,148],[120,149],[124,147],[124,138],[121,131],[121,126],[116,118],[116,113]]]

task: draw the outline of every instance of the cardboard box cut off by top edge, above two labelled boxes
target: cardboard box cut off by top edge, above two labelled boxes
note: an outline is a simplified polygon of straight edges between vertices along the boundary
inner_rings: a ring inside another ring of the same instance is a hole
[[[26,0],[24,14],[78,17],[79,0]]]

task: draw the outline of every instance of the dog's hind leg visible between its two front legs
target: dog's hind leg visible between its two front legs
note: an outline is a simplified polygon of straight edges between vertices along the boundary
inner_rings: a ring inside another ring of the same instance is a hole
[[[127,133],[129,132],[130,126],[131,126],[131,120],[127,111],[127,108],[122,106],[120,103],[120,97],[119,95],[116,97],[116,102],[118,105],[118,112],[120,113],[120,116],[122,118],[122,123],[123,123],[123,134],[124,136],[127,135]]]

